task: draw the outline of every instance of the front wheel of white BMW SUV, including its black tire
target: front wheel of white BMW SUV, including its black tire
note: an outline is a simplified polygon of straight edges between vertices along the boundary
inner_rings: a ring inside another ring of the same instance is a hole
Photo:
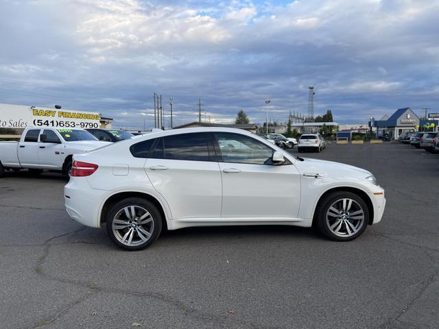
[[[369,210],[366,202],[355,193],[339,191],[323,200],[316,210],[314,221],[320,233],[328,239],[351,241],[366,230]]]

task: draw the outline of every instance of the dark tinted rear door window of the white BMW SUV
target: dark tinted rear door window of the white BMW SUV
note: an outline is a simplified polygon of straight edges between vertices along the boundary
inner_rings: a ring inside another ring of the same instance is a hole
[[[191,160],[211,161],[209,156],[210,136],[207,133],[178,134],[165,136],[163,148],[165,159],[169,160]],[[161,147],[161,145],[158,145]],[[158,149],[156,147],[156,149]]]

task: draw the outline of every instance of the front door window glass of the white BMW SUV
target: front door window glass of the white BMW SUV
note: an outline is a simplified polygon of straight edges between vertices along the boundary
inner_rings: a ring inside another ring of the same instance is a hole
[[[223,162],[272,164],[273,149],[249,136],[215,133]]]

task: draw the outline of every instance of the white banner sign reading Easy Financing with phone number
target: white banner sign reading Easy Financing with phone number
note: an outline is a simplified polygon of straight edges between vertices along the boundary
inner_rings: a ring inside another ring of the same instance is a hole
[[[99,128],[99,113],[0,104],[0,128]]]

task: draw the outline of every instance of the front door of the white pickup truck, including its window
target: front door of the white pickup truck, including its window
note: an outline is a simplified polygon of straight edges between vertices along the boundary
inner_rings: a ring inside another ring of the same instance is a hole
[[[64,145],[61,144],[60,137],[53,130],[43,130],[46,135],[46,142],[38,144],[38,158],[40,166],[46,169],[62,168],[61,152]]]

